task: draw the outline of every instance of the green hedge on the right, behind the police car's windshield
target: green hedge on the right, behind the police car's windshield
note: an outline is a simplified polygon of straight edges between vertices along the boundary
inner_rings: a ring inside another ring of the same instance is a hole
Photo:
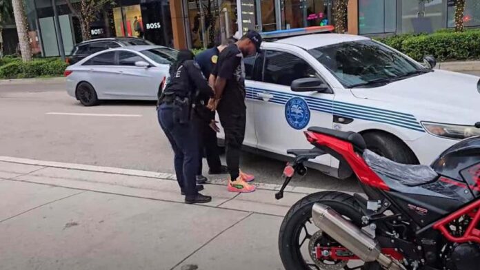
[[[431,54],[437,61],[480,59],[480,30],[442,31],[434,34],[400,34],[379,39],[417,61]]]

